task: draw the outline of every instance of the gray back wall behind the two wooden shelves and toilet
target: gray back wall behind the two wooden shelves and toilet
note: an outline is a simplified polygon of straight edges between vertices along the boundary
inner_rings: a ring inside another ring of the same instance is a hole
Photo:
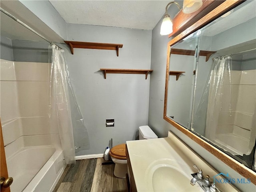
[[[151,31],[68,24],[68,40],[123,44],[114,50],[74,48],[66,60],[78,105],[88,130],[90,149],[76,155],[100,154],[113,145],[134,140],[138,127],[148,124],[150,75],[107,74],[100,68],[150,69]],[[64,46],[62,46],[64,47]],[[66,46],[65,46],[66,47]],[[154,72],[152,73],[154,74]],[[106,128],[106,119],[115,126]]]

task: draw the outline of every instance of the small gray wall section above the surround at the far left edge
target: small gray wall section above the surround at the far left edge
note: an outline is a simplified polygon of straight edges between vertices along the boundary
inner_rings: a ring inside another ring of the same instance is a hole
[[[0,58],[13,61],[12,40],[4,36],[1,36],[0,41]]]

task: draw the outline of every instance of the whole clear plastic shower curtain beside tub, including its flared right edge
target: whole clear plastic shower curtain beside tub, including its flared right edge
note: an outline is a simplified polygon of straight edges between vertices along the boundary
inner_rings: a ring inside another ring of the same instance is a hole
[[[75,162],[76,152],[90,149],[89,136],[70,82],[64,50],[52,44],[49,54],[48,117],[50,125],[58,127],[65,161],[71,164]]]

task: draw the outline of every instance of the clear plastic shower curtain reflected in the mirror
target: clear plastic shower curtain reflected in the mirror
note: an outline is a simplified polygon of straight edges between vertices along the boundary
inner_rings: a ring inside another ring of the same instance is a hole
[[[193,117],[193,127],[198,134],[207,139],[214,139],[218,122],[223,114],[233,110],[231,84],[231,56],[213,59],[212,68],[204,92]]]

